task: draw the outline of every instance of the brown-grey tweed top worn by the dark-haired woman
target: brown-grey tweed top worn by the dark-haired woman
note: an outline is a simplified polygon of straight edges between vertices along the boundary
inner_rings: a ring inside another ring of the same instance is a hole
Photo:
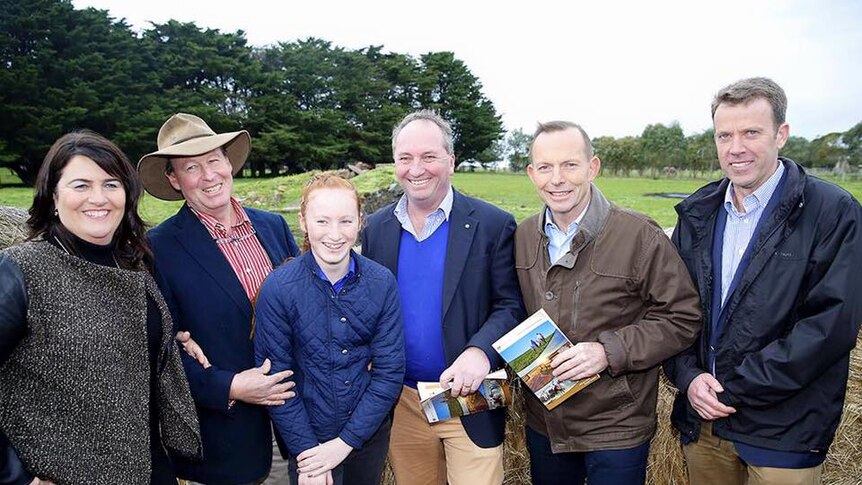
[[[148,484],[148,410],[166,447],[200,433],[164,299],[146,272],[89,263],[38,241],[3,251],[24,274],[27,334],[0,368],[0,427],[28,470],[58,485]],[[162,314],[159,395],[149,395],[147,294]]]

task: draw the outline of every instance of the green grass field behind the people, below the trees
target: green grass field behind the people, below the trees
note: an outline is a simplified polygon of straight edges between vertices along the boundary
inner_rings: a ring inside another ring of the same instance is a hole
[[[312,173],[291,175],[271,179],[236,179],[234,193],[244,204],[280,212],[292,229],[299,230],[298,216],[295,212],[299,205],[299,194],[303,184]],[[0,173],[2,180],[12,180],[8,172]],[[353,179],[360,192],[366,193],[395,183],[393,167],[384,166],[366,172]],[[839,181],[838,183],[856,197],[862,199],[862,181]],[[614,203],[643,212],[655,219],[662,227],[676,223],[673,206],[679,199],[649,196],[654,193],[693,192],[709,182],[706,179],[651,179],[639,177],[602,177],[596,185]],[[17,178],[15,178],[17,183]],[[525,174],[501,172],[456,173],[453,184],[458,190],[486,200],[508,212],[519,222],[541,208],[536,190]],[[28,208],[33,201],[33,191],[28,187],[0,188],[0,205]],[[141,217],[151,225],[167,219],[180,207],[182,202],[165,202],[149,195],[141,201]]]

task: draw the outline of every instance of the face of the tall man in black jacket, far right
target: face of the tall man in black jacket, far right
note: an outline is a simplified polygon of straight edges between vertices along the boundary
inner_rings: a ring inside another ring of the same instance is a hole
[[[778,151],[787,141],[787,123],[777,129],[772,107],[763,98],[722,103],[715,110],[715,146],[721,169],[733,183],[737,206],[778,168]]]

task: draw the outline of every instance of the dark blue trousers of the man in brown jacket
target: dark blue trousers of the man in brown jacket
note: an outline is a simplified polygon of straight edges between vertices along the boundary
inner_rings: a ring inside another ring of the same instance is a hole
[[[555,455],[548,438],[528,426],[527,449],[533,485],[582,485],[584,480],[590,485],[643,485],[646,482],[649,441],[624,450]]]

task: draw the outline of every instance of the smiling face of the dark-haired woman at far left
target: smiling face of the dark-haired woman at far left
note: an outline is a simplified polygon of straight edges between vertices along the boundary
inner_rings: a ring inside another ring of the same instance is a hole
[[[123,220],[126,190],[117,177],[96,162],[75,155],[63,168],[54,189],[60,223],[79,238],[106,245]]]

